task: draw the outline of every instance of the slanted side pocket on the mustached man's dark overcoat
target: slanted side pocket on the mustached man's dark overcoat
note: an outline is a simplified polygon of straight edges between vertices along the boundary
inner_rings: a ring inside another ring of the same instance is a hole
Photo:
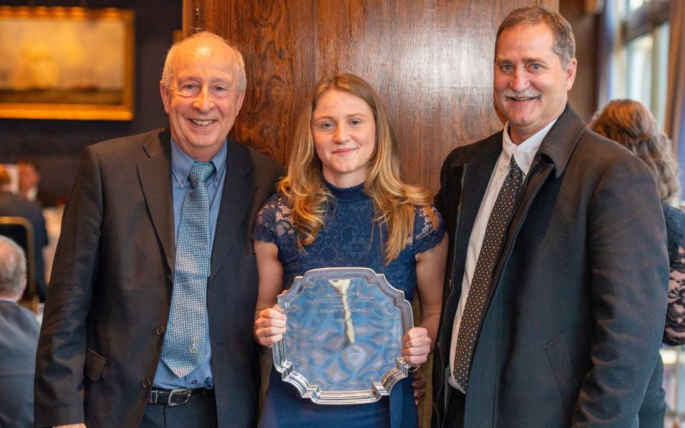
[[[578,378],[573,371],[571,355],[569,354],[566,340],[564,340],[564,335],[559,333],[554,336],[552,340],[547,342],[547,345],[544,345],[544,350],[547,352],[549,365],[552,367],[554,379],[557,381],[559,397],[562,399],[564,410],[570,421],[576,407],[579,384]]]

